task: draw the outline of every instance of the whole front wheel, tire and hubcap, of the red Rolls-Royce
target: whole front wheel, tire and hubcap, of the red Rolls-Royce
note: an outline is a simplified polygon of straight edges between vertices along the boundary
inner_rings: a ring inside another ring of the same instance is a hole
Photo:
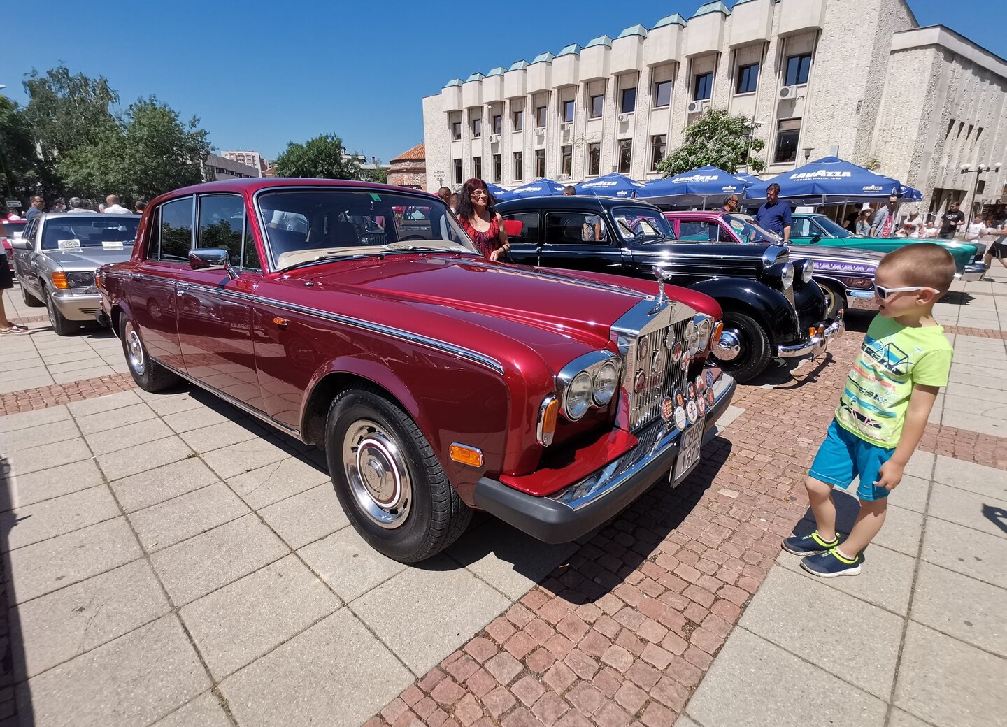
[[[420,428],[375,387],[332,401],[325,456],[346,518],[393,560],[418,563],[440,553],[471,520]]]

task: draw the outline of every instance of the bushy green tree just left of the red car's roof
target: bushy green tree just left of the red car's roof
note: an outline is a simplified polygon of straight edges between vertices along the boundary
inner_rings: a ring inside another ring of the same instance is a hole
[[[209,150],[197,118],[182,122],[150,97],[132,104],[96,143],[61,159],[59,171],[67,187],[84,195],[150,198],[200,181]]]

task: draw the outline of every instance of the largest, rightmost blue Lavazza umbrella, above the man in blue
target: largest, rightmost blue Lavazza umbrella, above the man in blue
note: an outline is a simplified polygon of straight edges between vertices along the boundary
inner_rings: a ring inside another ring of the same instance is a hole
[[[779,184],[781,198],[807,199],[819,203],[886,197],[892,193],[898,194],[902,186],[897,179],[835,156],[826,156],[794,171],[753,184],[748,187],[746,196],[749,199],[765,198],[766,187],[773,182]]]

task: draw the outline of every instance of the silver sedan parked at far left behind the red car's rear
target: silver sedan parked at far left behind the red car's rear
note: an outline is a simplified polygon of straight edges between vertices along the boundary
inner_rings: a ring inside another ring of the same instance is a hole
[[[95,321],[101,296],[95,271],[133,254],[139,214],[50,212],[28,223],[14,238],[14,275],[29,306],[48,309],[57,335],[69,335]]]

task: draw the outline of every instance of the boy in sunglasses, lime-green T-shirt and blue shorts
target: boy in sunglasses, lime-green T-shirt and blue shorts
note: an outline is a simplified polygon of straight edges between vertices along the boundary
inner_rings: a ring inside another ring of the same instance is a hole
[[[901,481],[938,392],[948,384],[954,351],[933,319],[933,304],[954,279],[954,259],[932,243],[899,248],[878,265],[878,314],[805,481],[818,530],[782,543],[816,576],[860,573],[860,553],[881,530],[888,492]],[[844,538],[836,532],[832,488],[848,487],[858,476],[860,514]]]

